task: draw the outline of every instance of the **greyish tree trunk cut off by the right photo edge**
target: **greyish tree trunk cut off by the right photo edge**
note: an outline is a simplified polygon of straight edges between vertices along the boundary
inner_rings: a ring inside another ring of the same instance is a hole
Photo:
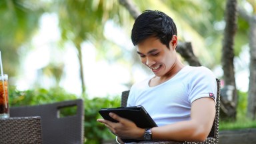
[[[250,19],[250,77],[248,89],[247,117],[256,118],[256,15]]]

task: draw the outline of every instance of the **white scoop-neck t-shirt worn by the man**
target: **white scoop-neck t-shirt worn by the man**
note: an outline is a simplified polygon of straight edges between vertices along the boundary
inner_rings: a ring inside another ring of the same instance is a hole
[[[149,87],[153,77],[131,87],[127,106],[143,105],[158,126],[191,119],[191,104],[201,97],[216,99],[215,75],[206,67],[185,66],[168,81]]]

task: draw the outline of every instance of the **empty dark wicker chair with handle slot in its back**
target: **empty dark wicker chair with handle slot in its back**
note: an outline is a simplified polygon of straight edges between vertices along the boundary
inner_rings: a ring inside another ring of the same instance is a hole
[[[60,111],[75,111],[60,116]],[[45,105],[11,107],[10,117],[40,116],[44,144],[83,143],[83,100],[62,101]]]

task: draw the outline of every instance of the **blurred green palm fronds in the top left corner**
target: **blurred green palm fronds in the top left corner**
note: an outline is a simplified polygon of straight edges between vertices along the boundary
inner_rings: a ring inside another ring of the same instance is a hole
[[[42,7],[45,5],[33,0],[0,1],[0,50],[3,71],[10,77],[19,73],[20,58],[25,53],[18,52],[18,49],[35,33],[44,11]]]

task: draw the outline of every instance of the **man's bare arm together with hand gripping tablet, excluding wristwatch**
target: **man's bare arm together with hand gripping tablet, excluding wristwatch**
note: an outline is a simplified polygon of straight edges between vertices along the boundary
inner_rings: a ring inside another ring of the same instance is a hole
[[[118,137],[129,139],[144,139],[145,129],[141,129],[128,119],[123,119],[110,113],[119,123],[104,119],[97,121],[104,123]],[[153,141],[204,141],[211,131],[215,117],[215,101],[203,97],[193,101],[191,107],[191,120],[173,123],[151,129]]]

